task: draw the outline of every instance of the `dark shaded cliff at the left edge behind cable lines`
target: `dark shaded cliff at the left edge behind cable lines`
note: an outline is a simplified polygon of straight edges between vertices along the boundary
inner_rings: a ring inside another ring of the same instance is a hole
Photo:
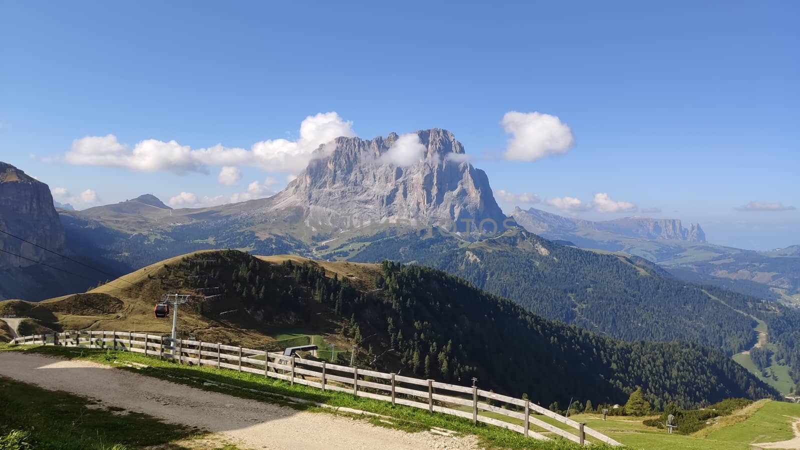
[[[45,183],[26,175],[18,168],[0,162],[0,228],[32,243],[62,252],[65,235],[53,196]],[[46,262],[54,255],[0,233],[0,248],[36,261]],[[34,263],[0,253],[0,270],[29,267]]]

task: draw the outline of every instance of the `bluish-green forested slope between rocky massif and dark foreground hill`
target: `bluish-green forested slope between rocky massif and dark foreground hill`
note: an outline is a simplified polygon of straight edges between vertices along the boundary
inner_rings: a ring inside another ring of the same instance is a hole
[[[526,231],[467,245],[401,235],[371,243],[351,260],[387,257],[436,267],[535,314],[622,340],[684,339],[728,355],[754,343],[754,319],[710,298],[699,285],[652,265],[561,246]]]

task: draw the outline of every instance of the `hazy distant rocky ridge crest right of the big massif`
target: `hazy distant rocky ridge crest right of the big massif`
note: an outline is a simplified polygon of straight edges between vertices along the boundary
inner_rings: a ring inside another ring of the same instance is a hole
[[[609,231],[632,238],[706,242],[706,233],[702,231],[699,223],[692,223],[689,228],[685,228],[680,219],[650,219],[633,216],[594,222],[562,217],[536,208],[530,208],[525,211],[519,207],[514,208],[510,215],[526,230],[538,234],[574,231],[582,227],[588,227],[593,230]]]

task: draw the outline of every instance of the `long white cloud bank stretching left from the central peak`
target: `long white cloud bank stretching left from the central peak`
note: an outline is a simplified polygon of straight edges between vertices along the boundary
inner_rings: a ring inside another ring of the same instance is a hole
[[[319,113],[306,117],[300,123],[298,140],[269,139],[254,143],[250,150],[228,148],[220,144],[192,150],[174,140],[163,142],[157,139],[146,139],[130,147],[119,143],[114,135],[86,136],[75,139],[70,151],[62,158],[43,160],[63,160],[83,166],[122,167],[132,171],[173,171],[178,174],[206,173],[207,166],[250,166],[268,171],[298,172],[306,168],[314,151],[322,144],[339,136],[353,137],[352,126],[352,122],[342,120],[335,112]],[[333,150],[328,147],[331,146],[323,148],[323,152]]]

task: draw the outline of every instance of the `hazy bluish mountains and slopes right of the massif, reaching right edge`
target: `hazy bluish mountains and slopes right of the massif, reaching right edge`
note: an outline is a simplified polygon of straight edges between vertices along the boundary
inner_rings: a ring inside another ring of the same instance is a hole
[[[519,207],[511,216],[526,230],[578,247],[620,251],[666,267],[673,275],[769,299],[800,294],[798,246],[751,251],[706,242],[700,224],[683,227],[677,219],[624,219],[593,222]]]

